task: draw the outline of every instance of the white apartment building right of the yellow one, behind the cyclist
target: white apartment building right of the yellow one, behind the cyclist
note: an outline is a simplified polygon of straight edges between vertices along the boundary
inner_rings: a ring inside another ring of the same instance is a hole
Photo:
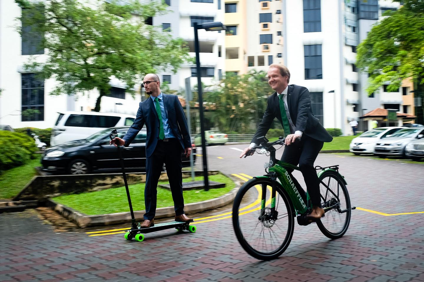
[[[368,96],[368,74],[355,66],[356,47],[366,38],[382,11],[396,9],[399,4],[383,0],[282,0],[284,21],[283,60],[291,73],[290,83],[309,89],[312,110],[326,128],[340,128],[351,134],[351,119],[360,120],[375,109],[395,108],[403,113],[402,95],[386,92]],[[406,93],[406,94],[405,94]],[[411,119],[406,114],[398,123]],[[379,117],[378,119],[384,120]],[[369,124],[368,124],[369,122]],[[384,126],[384,125],[381,125]],[[371,128],[371,118],[360,123]]]

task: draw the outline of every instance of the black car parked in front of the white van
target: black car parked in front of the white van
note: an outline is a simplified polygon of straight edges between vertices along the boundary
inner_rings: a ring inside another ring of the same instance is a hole
[[[86,174],[92,172],[121,171],[117,148],[109,145],[109,134],[116,129],[118,137],[123,137],[129,126],[103,129],[92,136],[65,142],[48,148],[41,160],[43,171],[55,174]],[[143,128],[134,138],[129,147],[121,147],[125,170],[128,172],[143,172],[146,168],[146,129]],[[194,144],[193,144],[194,147]],[[193,159],[196,150],[192,150]],[[190,166],[190,158],[181,154],[183,167]]]

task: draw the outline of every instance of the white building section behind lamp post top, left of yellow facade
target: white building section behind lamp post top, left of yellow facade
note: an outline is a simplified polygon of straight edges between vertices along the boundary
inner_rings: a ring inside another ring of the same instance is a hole
[[[169,13],[153,17],[153,25],[169,30],[173,37],[182,38],[195,58],[193,23],[223,22],[223,0],[167,0]],[[202,83],[215,84],[225,71],[225,31],[198,30],[200,67]],[[162,81],[168,82],[171,90],[183,90],[185,79],[190,77],[193,89],[197,85],[195,63],[185,63],[176,74],[163,70],[159,73]],[[208,88],[204,89],[207,91]]]

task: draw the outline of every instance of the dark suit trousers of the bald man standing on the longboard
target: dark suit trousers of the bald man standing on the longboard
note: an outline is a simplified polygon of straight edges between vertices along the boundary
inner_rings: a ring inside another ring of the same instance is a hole
[[[146,185],[144,189],[144,203],[146,213],[144,219],[152,220],[156,214],[157,185],[163,164],[165,164],[174,201],[175,215],[184,214],[184,198],[181,172],[181,144],[178,139],[169,141],[158,140],[155,151],[146,159]]]

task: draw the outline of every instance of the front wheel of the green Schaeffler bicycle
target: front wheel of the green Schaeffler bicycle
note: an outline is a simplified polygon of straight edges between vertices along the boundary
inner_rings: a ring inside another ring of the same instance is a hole
[[[243,249],[259,260],[279,257],[293,236],[295,211],[289,197],[277,185],[273,205],[271,191],[269,178],[253,178],[240,188],[234,199],[234,233]]]

